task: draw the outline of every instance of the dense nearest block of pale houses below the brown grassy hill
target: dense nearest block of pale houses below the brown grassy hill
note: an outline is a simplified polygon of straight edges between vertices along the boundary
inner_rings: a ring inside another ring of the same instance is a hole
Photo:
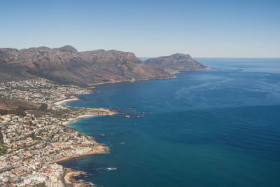
[[[62,183],[62,166],[53,163],[64,157],[83,155],[99,145],[50,116],[1,116],[2,144],[0,185]]]

